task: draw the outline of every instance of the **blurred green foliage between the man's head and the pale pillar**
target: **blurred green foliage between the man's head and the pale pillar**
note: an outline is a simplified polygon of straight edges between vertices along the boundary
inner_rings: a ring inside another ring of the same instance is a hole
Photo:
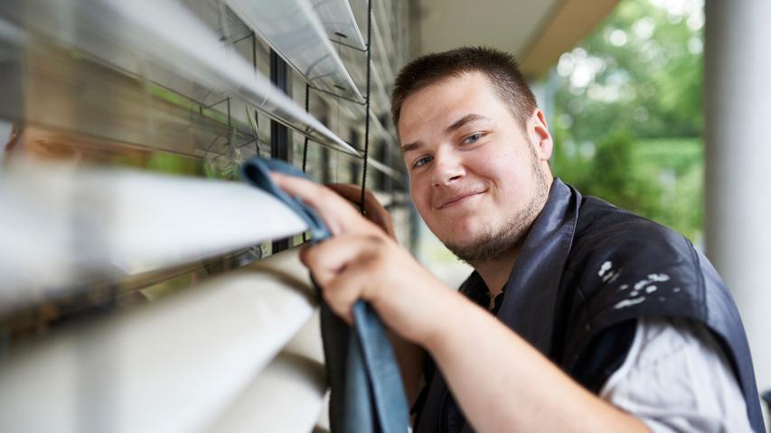
[[[552,114],[560,178],[697,240],[702,26],[686,0],[623,0],[560,57]]]

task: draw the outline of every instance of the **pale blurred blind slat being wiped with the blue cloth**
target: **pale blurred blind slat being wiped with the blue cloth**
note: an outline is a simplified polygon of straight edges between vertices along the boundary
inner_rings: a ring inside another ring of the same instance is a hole
[[[94,276],[117,280],[306,230],[294,211],[240,182],[39,163],[11,169],[0,181],[2,309]]]

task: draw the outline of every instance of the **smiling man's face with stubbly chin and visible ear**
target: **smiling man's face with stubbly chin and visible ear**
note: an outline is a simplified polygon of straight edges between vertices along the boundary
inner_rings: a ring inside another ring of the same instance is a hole
[[[519,244],[546,201],[551,138],[540,112],[526,129],[479,72],[420,89],[401,107],[415,206],[466,262],[494,259]]]

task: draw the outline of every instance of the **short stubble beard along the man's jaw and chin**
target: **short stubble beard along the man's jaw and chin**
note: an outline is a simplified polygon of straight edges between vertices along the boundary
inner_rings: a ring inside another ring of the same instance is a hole
[[[454,253],[458,259],[473,267],[480,263],[502,258],[505,254],[518,249],[530,232],[532,223],[538,217],[548,198],[549,176],[541,167],[538,155],[532,148],[531,168],[533,176],[536,178],[536,191],[526,207],[510,217],[503,226],[488,227],[483,234],[478,235],[471,242],[465,244],[445,243],[447,249]]]

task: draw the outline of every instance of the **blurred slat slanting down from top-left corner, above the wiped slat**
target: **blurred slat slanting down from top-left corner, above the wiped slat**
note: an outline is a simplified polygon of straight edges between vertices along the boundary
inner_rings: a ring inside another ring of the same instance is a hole
[[[249,61],[226,50],[217,34],[179,1],[28,0],[21,5],[2,3],[0,14],[54,41],[117,62],[121,69],[141,71],[145,61],[164,65],[207,88],[240,97],[284,123],[302,124],[316,141],[361,156]]]

